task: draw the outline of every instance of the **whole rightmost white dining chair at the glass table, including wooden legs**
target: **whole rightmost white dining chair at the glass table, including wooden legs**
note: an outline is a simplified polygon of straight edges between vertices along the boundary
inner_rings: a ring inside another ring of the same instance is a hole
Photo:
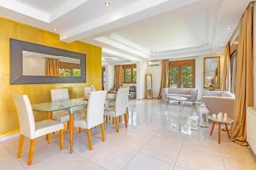
[[[119,117],[124,115],[125,118],[125,127],[128,126],[128,96],[129,96],[129,88],[119,88],[115,105],[105,109],[105,116],[112,116],[113,122],[115,122],[116,132],[119,133]]]

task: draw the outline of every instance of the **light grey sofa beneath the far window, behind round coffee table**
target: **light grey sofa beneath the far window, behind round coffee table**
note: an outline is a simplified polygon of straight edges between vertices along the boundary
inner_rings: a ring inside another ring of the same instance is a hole
[[[164,88],[162,91],[162,99],[166,100],[167,96],[179,95],[187,98],[189,102],[195,104],[198,95],[196,88]]]

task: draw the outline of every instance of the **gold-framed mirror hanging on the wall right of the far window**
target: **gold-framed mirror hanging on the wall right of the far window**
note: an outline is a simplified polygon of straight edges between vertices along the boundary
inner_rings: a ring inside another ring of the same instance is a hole
[[[220,88],[220,57],[204,58],[204,88]]]

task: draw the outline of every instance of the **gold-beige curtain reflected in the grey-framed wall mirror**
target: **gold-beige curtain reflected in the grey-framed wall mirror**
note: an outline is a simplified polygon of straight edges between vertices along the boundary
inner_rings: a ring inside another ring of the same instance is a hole
[[[59,76],[59,68],[60,68],[60,63],[59,59],[50,59],[50,58],[45,58],[46,61],[46,75],[47,76]]]

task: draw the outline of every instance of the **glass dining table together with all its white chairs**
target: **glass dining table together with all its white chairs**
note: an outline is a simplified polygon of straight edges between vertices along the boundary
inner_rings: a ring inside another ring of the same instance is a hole
[[[102,142],[105,142],[104,124],[113,124],[119,133],[119,123],[128,126],[128,88],[120,88],[117,94],[108,97],[107,91],[93,91],[84,88],[84,97],[69,99],[68,89],[51,89],[50,102],[31,104],[26,94],[15,94],[15,105],[20,122],[20,142],[17,158],[23,153],[24,139],[30,140],[27,165],[32,165],[35,139],[45,136],[45,142],[51,144],[53,136],[59,135],[60,150],[64,148],[64,132],[68,133],[69,152],[73,154],[74,129],[86,133],[89,150],[93,150],[91,130],[100,128]],[[33,112],[46,114],[47,119],[35,122]],[[108,137],[107,137],[108,139]],[[84,144],[85,144],[84,139]]]

